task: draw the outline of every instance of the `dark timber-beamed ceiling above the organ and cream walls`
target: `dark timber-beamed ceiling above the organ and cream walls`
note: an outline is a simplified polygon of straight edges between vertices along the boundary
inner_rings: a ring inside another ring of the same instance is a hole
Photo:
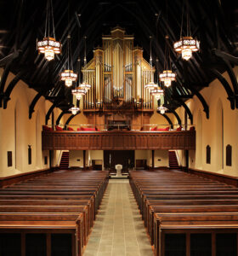
[[[172,67],[177,73],[177,81],[166,92],[170,109],[183,105],[193,95],[199,96],[199,90],[213,79],[218,79],[224,86],[231,108],[238,108],[238,85],[232,71],[232,67],[238,65],[237,1],[52,1],[56,39],[63,48],[62,55],[50,62],[38,55],[36,49],[37,38],[43,38],[46,0],[0,1],[0,67],[5,69],[0,83],[0,107],[6,107],[9,100],[10,91],[6,90],[5,81],[10,71],[67,111],[71,108],[71,89],[59,81],[59,73],[65,69],[67,35],[71,34],[73,66],[78,72],[83,64],[83,38],[87,37],[89,61],[94,47],[101,45],[101,36],[109,34],[114,26],[122,26],[127,34],[134,35],[134,45],[144,49],[144,58],[148,61],[150,36],[153,37],[153,65],[159,73],[162,72],[165,35],[168,33]],[[189,4],[192,36],[201,41],[200,51],[187,63],[173,51],[173,43],[179,39],[184,3]],[[231,85],[220,77],[224,71],[229,73]],[[16,81],[12,82],[11,90],[14,84]]]

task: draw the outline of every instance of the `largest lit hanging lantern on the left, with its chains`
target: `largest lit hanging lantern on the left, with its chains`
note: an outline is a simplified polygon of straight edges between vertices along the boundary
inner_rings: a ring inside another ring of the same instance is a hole
[[[52,24],[50,24],[50,20],[52,20]],[[51,37],[51,26],[53,37]],[[61,43],[55,39],[52,0],[47,2],[44,38],[41,41],[37,40],[37,50],[39,54],[44,54],[47,61],[54,60],[54,55],[61,53]]]

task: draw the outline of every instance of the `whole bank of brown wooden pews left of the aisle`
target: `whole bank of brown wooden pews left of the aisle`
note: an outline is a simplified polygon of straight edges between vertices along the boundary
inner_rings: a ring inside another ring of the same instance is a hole
[[[0,189],[0,229],[1,233],[3,232],[0,237],[4,241],[4,237],[7,237],[4,234],[11,234],[11,238],[20,234],[20,237],[23,237],[20,255],[25,256],[29,247],[29,244],[25,244],[25,234],[34,232],[43,234],[44,230],[48,229],[48,225],[52,224],[48,234],[45,234],[48,243],[47,255],[51,255],[50,237],[54,236],[55,241],[55,237],[62,232],[66,235],[75,234],[76,231],[80,232],[80,247],[76,245],[75,237],[74,239],[71,237],[72,248],[70,247],[69,250],[72,255],[82,255],[82,248],[87,243],[107,184],[108,172],[60,171]],[[80,226],[72,222],[71,218],[76,216],[80,216]],[[17,229],[14,230],[12,224],[17,222],[22,225],[16,225]],[[67,222],[69,229],[65,226]],[[12,230],[14,234],[11,233]],[[8,249],[10,249],[8,246],[3,245],[3,250]],[[0,248],[0,255],[1,253]]]

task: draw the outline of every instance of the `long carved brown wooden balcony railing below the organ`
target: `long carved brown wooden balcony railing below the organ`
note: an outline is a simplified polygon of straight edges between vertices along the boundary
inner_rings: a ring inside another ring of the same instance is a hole
[[[42,149],[195,149],[195,131],[42,131]]]

